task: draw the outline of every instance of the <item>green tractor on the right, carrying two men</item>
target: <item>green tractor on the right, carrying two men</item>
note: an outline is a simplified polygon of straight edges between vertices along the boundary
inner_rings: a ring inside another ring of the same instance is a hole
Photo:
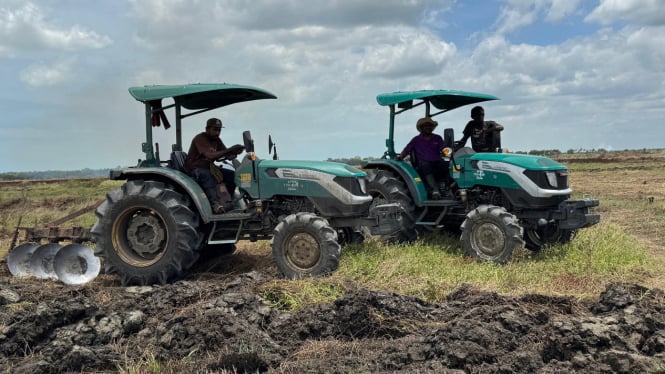
[[[397,160],[394,130],[397,116],[424,109],[434,117],[449,110],[488,100],[492,95],[423,90],[380,94],[377,101],[390,109],[387,150],[379,160],[365,165],[367,190],[373,204],[398,203],[403,209],[403,230],[384,236],[389,241],[411,241],[419,233],[445,229],[460,233],[466,255],[505,263],[516,248],[538,251],[570,241],[577,230],[594,225],[596,199],[571,200],[566,166],[546,157],[503,153],[500,134],[493,141],[496,153],[476,153],[470,148],[449,149],[452,183],[443,199],[429,198],[418,172],[417,160]],[[412,124],[410,124],[411,126]],[[444,130],[453,145],[453,129]]]

